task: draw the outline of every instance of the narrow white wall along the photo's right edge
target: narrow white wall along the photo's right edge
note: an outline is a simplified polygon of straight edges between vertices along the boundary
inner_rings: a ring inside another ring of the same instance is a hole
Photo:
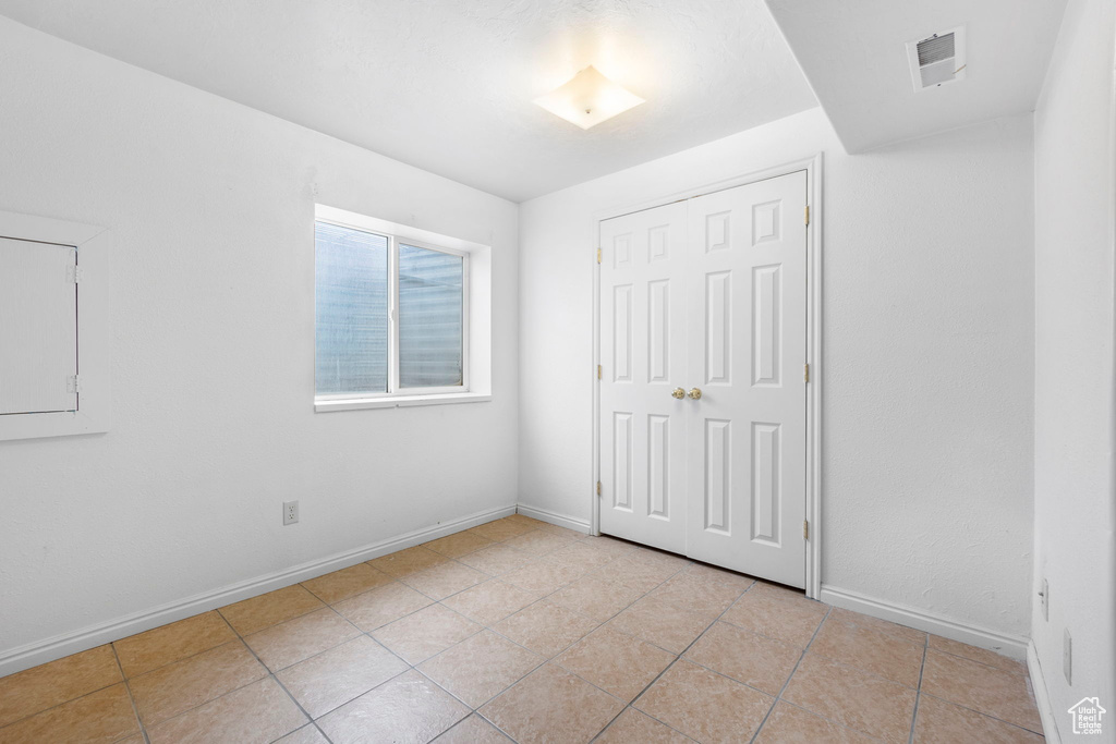
[[[1116,712],[1114,13],[1110,0],[1070,1],[1035,114],[1035,590],[1049,581],[1050,619],[1036,601],[1031,635],[1067,740],[1066,712],[1086,695]]]

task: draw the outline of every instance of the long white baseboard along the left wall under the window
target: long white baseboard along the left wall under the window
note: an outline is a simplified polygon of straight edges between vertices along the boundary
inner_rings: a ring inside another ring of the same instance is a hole
[[[218,607],[239,602],[242,599],[256,597],[257,595],[262,595],[275,589],[281,589],[299,581],[306,581],[323,573],[356,566],[373,558],[393,553],[396,550],[430,542],[431,540],[436,540],[437,538],[461,530],[468,530],[471,526],[477,526],[478,524],[483,524],[501,516],[510,516],[514,513],[514,505],[490,509],[484,512],[478,512],[458,520],[442,522],[434,526],[415,530],[396,538],[364,545],[356,550],[336,553],[327,558],[300,563],[282,571],[239,581],[213,591],[194,595],[180,601],[167,602],[150,610],[133,612],[132,615],[99,622],[74,632],[61,634],[45,640],[17,646],[16,648],[0,649],[0,677],[46,664],[47,661],[54,661],[64,656],[77,654],[78,651],[84,651],[102,644],[127,638],[137,632],[151,630],[152,628],[157,628],[175,620],[182,620],[199,612],[206,612]]]

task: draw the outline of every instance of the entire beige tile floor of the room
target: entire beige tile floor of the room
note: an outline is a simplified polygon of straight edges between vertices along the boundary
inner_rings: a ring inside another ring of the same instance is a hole
[[[1019,661],[519,514],[0,679],[0,744],[1037,732]]]

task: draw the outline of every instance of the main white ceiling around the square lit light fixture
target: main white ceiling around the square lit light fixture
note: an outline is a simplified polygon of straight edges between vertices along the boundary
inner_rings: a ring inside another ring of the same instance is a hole
[[[762,0],[0,0],[19,22],[522,201],[817,105]],[[642,106],[531,102],[587,65]]]

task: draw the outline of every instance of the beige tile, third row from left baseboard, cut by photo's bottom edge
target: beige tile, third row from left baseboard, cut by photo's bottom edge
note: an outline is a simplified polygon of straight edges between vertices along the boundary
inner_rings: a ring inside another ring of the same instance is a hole
[[[261,679],[147,729],[152,744],[266,744],[307,724],[275,679]]]

